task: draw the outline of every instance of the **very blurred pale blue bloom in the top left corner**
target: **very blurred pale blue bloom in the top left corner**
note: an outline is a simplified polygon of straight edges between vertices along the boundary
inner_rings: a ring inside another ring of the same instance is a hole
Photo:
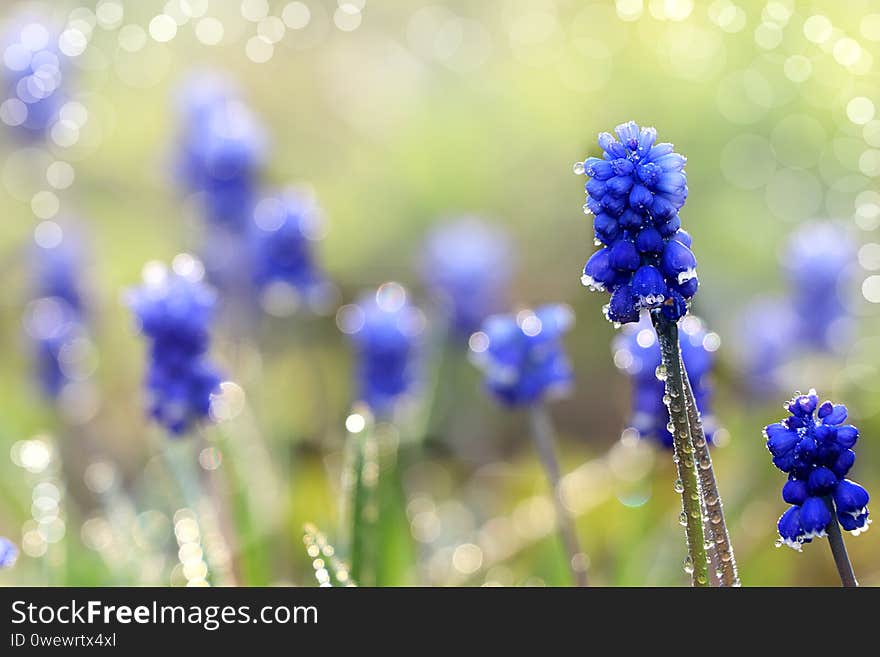
[[[0,118],[21,136],[42,137],[64,104],[67,58],[58,49],[58,37],[47,25],[25,17],[8,28],[0,48],[5,92]]]

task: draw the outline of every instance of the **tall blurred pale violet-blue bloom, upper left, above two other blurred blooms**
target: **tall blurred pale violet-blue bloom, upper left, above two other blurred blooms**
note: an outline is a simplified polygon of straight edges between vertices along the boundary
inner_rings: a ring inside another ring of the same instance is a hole
[[[234,88],[213,74],[193,76],[178,97],[177,174],[199,193],[210,222],[242,231],[266,159],[265,132]]]

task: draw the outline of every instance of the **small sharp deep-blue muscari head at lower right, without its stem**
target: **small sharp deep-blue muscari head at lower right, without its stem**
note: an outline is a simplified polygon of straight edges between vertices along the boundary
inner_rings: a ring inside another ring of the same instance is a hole
[[[773,464],[788,473],[782,498],[792,506],[779,518],[777,545],[800,551],[836,522],[853,535],[868,529],[868,492],[846,479],[855,462],[859,431],[844,424],[843,404],[819,404],[815,390],[785,404],[789,417],[764,429]]]

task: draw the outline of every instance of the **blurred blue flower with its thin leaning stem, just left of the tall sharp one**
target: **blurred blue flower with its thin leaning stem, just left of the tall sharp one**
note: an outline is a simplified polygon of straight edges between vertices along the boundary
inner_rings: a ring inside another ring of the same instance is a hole
[[[492,315],[471,336],[469,344],[489,394],[508,408],[528,410],[532,437],[553,493],[572,579],[577,586],[586,586],[586,558],[563,496],[553,425],[544,405],[545,400],[571,388],[573,372],[562,336],[573,321],[571,309],[559,304],[522,310],[516,315]]]

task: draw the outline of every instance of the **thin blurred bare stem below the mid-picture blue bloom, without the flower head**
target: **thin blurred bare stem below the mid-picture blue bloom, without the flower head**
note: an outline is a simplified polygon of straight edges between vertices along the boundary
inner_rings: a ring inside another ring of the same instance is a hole
[[[529,409],[529,420],[532,425],[532,437],[538,448],[538,456],[547,482],[553,491],[553,503],[556,506],[556,522],[559,535],[568,556],[568,566],[575,586],[587,586],[587,571],[584,567],[584,553],[578,541],[574,519],[562,500],[562,487],[559,462],[556,460],[553,422],[543,404],[535,404]]]

